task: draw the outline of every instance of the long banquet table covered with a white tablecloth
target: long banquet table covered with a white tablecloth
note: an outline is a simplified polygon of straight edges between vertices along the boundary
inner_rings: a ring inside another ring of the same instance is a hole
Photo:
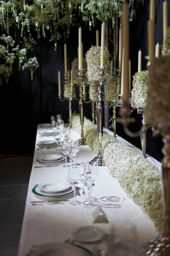
[[[43,154],[57,153],[54,149],[49,150],[37,150],[36,145],[40,140],[53,139],[52,137],[41,137],[39,132],[48,130],[47,128],[37,128],[35,153],[33,166],[37,166],[36,159]],[[113,132],[105,130],[113,135]],[[80,138],[80,135],[76,130],[71,129],[71,138]],[[136,148],[123,138],[117,136],[118,140],[122,143],[133,147],[137,153],[142,155],[140,149]],[[81,146],[80,151],[77,154],[78,162],[90,161],[96,154],[90,149],[88,145]],[[161,171],[162,164],[154,158],[147,155],[147,159],[153,162]],[[34,168],[30,176],[28,194],[26,198],[25,212],[21,229],[21,238],[19,246],[18,256],[24,256],[28,254],[29,249],[33,245],[43,245],[48,243],[63,243],[68,238],[72,237],[72,232],[81,226],[96,226],[104,230],[106,234],[117,234],[121,237],[119,245],[115,245],[114,255],[144,255],[143,250],[146,242],[158,235],[152,220],[143,213],[140,206],[136,205],[132,199],[128,198],[125,191],[120,187],[118,181],[111,177],[107,171],[107,167],[99,167],[99,175],[96,179],[95,186],[93,186],[93,196],[102,198],[104,196],[120,196],[124,200],[118,202],[120,208],[102,208],[106,213],[109,221],[106,223],[93,223],[92,213],[95,210],[93,208],[85,208],[83,204],[70,205],[69,202],[64,204],[54,205],[37,205],[33,206],[31,201],[39,201],[32,192],[35,184],[39,184],[42,181],[49,180],[61,180],[67,177],[68,168],[57,166],[54,168]],[[80,184],[81,187],[81,184]],[[87,192],[87,190],[85,190]],[[80,190],[81,196],[77,196],[79,201],[85,201],[86,196],[82,195],[82,189]],[[87,193],[86,193],[87,195]],[[72,200],[72,198],[70,199]],[[78,244],[78,242],[76,242]],[[105,250],[108,248],[108,244],[105,242],[81,244],[84,247],[89,248],[92,252],[97,253],[98,250]],[[134,253],[134,254],[132,254]],[[97,255],[97,254],[96,254]],[[110,253],[109,255],[113,255]]]

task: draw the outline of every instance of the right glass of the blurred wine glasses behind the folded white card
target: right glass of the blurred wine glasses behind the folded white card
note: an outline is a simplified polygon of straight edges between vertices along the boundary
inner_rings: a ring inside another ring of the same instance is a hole
[[[84,168],[84,182],[89,190],[89,197],[87,198],[87,201],[84,202],[84,204],[85,207],[88,208],[102,205],[102,202],[100,202],[97,198],[92,197],[92,185],[94,180],[97,179],[98,171],[98,165],[86,165]]]

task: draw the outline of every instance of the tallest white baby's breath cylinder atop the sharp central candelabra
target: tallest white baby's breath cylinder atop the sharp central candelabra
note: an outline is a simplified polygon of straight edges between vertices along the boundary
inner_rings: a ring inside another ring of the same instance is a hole
[[[87,78],[88,81],[97,81],[100,77],[99,72],[100,69],[100,55],[101,55],[101,47],[93,46],[86,53],[86,61],[87,61]],[[104,70],[107,79],[110,79],[110,53],[107,48],[104,48]]]

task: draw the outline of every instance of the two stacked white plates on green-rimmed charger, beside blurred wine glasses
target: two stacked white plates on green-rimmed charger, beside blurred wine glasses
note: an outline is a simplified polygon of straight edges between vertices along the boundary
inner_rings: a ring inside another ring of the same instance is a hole
[[[35,192],[42,196],[64,196],[72,193],[74,187],[66,181],[42,182],[35,187]]]

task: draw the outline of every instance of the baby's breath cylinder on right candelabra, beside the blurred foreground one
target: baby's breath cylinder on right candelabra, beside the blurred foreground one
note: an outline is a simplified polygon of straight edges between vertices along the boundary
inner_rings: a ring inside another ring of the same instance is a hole
[[[149,72],[144,70],[133,76],[132,108],[146,108]]]

